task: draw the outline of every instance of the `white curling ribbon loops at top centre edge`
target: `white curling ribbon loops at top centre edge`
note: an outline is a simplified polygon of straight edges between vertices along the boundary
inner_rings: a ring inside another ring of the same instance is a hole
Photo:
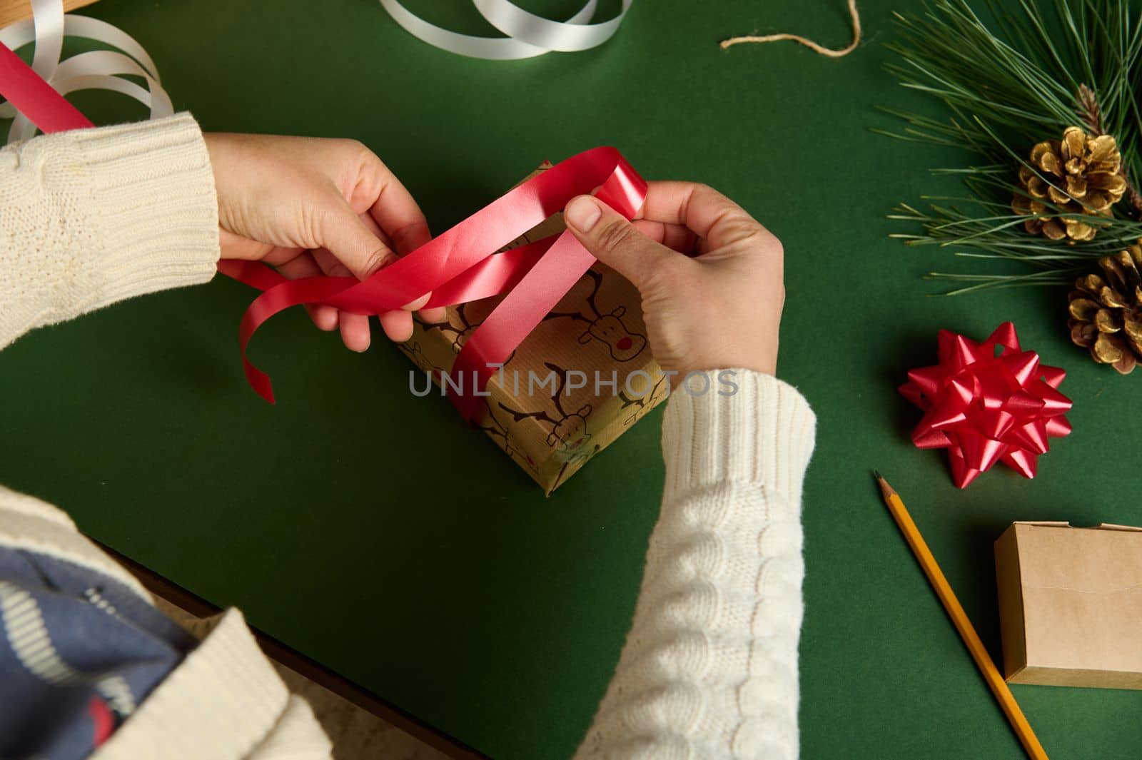
[[[588,0],[579,13],[565,22],[555,22],[529,13],[509,0],[472,0],[484,19],[506,34],[506,38],[458,34],[424,21],[400,3],[400,0],[380,0],[405,32],[433,47],[471,58],[488,60],[518,60],[546,52],[576,52],[589,50],[606,42],[618,31],[634,0],[622,0],[622,9],[614,18],[592,24],[598,0]]]

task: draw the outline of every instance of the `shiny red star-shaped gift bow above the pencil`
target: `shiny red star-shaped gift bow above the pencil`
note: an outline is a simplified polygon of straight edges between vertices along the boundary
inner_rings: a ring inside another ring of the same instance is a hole
[[[1071,399],[1057,390],[1067,373],[1020,348],[1011,322],[982,343],[947,330],[938,341],[940,363],[910,371],[900,387],[924,410],[912,443],[947,448],[951,478],[960,488],[999,461],[1034,478],[1048,439],[1071,431],[1063,417]]]

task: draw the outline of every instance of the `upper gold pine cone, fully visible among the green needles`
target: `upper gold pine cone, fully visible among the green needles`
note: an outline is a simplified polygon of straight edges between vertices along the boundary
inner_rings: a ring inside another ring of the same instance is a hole
[[[1096,225],[1057,213],[1110,217],[1110,207],[1126,192],[1121,154],[1110,135],[1088,137],[1079,127],[1063,130],[1063,139],[1046,140],[1031,148],[1027,165],[1019,168],[1019,184],[1026,195],[1011,201],[1015,213],[1031,217],[1023,227],[1032,235],[1051,240],[1086,241],[1094,237]],[[1054,204],[1060,209],[1047,205]]]

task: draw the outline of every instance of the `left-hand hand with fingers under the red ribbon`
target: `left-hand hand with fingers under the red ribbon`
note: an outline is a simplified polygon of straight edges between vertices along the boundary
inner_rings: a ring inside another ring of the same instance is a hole
[[[424,213],[403,185],[356,140],[270,135],[206,136],[218,191],[224,259],[260,259],[291,278],[364,280],[428,242]],[[393,340],[412,335],[412,314],[380,315]],[[355,351],[369,348],[369,317],[306,307],[322,330],[340,326]],[[443,309],[425,318],[439,322]]]

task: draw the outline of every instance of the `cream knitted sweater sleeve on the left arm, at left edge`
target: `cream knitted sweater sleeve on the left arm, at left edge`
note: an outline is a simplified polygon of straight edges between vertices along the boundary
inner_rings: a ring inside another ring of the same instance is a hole
[[[207,282],[218,201],[190,114],[0,149],[0,348],[114,301]]]

